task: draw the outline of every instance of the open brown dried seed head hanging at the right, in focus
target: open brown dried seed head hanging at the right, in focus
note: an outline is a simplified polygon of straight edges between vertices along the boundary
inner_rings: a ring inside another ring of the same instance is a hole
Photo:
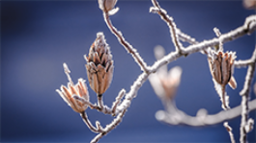
[[[234,60],[236,59],[236,53],[218,51],[210,52],[208,61],[211,70],[211,74],[216,83],[221,85],[229,85],[234,89],[237,87],[237,83],[233,76]]]

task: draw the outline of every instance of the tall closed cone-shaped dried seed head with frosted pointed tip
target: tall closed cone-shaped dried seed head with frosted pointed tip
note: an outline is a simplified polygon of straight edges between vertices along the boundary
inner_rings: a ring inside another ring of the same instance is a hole
[[[103,33],[97,34],[88,57],[85,55],[84,58],[90,86],[100,96],[112,82],[114,71],[114,61]]]

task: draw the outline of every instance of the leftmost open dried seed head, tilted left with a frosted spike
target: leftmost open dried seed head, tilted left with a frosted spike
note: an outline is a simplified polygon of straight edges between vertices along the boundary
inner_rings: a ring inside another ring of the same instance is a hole
[[[61,85],[61,90],[56,89],[56,91],[74,111],[81,113],[88,106],[85,102],[83,102],[82,100],[76,100],[75,98],[73,98],[73,96],[78,95],[80,98],[84,99],[84,101],[89,101],[89,93],[85,84],[85,80],[79,79],[78,83],[74,85],[71,81],[71,71],[69,70],[68,65],[64,63],[63,66],[69,80],[68,87],[66,87],[65,85]]]

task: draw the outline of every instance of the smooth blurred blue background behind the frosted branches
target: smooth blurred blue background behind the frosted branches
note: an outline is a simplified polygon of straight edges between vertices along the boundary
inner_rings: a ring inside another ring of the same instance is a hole
[[[213,28],[222,34],[242,26],[245,17],[255,13],[246,10],[242,1],[159,1],[173,16],[177,27],[198,41],[215,37]],[[1,1],[1,142],[89,142],[96,135],[83,123],[79,114],[55,92],[68,80],[63,62],[71,69],[71,78],[87,79],[83,55],[89,53],[98,32],[103,32],[111,47],[114,77],[104,96],[111,107],[122,88],[127,91],[141,70],[137,63],[107,29],[97,1]],[[154,47],[166,52],[175,50],[169,29],[157,14],[149,13],[150,0],[120,0],[120,11],[111,16],[128,42],[152,65]],[[185,44],[188,46],[188,44]],[[255,47],[255,33],[224,44],[225,51],[237,51],[237,60],[249,59]],[[204,107],[210,114],[221,110],[213,88],[205,55],[200,53],[175,60],[168,67],[183,68],[182,83],[177,92],[177,107],[195,115]],[[235,69],[238,87],[227,87],[230,106],[241,104],[239,92],[246,68]],[[253,80],[255,83],[255,78]],[[87,83],[88,87],[89,84]],[[97,96],[89,87],[92,103]],[[255,99],[255,94],[251,93]],[[143,84],[123,122],[100,142],[230,142],[222,124],[192,128],[169,126],[156,121],[162,109],[149,82]],[[112,121],[109,115],[87,109],[93,124]],[[255,111],[250,113],[255,119]],[[235,139],[239,141],[241,118],[230,120]],[[255,142],[255,129],[248,133]]]

